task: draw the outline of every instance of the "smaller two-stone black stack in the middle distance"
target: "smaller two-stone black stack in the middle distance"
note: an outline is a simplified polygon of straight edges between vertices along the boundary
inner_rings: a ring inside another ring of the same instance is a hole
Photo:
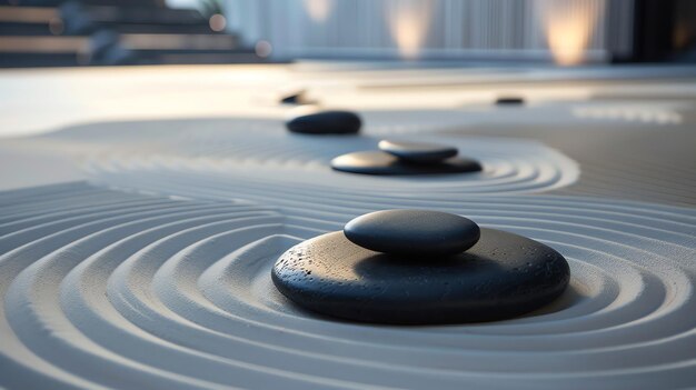
[[[444,174],[478,172],[474,160],[457,158],[457,148],[422,142],[382,140],[379,151],[342,154],[331,160],[331,168],[361,174]]]

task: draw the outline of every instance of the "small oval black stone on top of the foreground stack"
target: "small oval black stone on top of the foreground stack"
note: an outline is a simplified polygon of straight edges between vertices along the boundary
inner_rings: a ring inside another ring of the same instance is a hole
[[[346,223],[348,240],[377,252],[436,257],[457,254],[478,241],[478,224],[460,216],[428,210],[382,210]]]

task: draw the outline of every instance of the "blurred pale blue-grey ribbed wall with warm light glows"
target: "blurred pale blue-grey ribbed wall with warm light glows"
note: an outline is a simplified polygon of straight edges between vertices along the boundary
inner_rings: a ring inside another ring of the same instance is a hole
[[[225,0],[276,58],[606,61],[632,50],[634,0]]]

